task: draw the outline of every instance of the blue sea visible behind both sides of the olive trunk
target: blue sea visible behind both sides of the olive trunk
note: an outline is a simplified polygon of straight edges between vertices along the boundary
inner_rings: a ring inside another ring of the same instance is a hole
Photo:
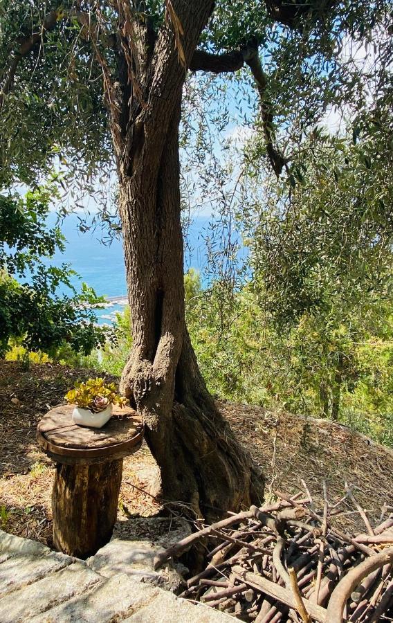
[[[55,213],[48,217],[48,225],[53,226],[56,222]],[[204,276],[205,267],[208,263],[208,246],[212,244],[212,217],[197,216],[192,224],[188,226],[185,237],[184,267],[185,271],[190,268],[197,269],[201,273],[202,281],[206,282]],[[89,225],[89,221],[84,224]],[[111,298],[122,299],[111,302],[105,309],[97,310],[98,322],[111,323],[116,312],[124,308],[127,298],[127,287],[125,282],[125,264],[122,252],[121,240],[112,240],[111,244],[104,244],[100,228],[91,227],[88,231],[80,231],[81,220],[77,214],[68,215],[60,223],[62,233],[66,238],[65,251],[57,251],[51,264],[60,266],[63,262],[71,265],[78,276],[72,280],[75,287],[80,283],[86,282],[93,287],[96,294]],[[209,242],[207,242],[209,240]],[[215,244],[213,242],[213,244]],[[66,289],[64,288],[64,293]]]

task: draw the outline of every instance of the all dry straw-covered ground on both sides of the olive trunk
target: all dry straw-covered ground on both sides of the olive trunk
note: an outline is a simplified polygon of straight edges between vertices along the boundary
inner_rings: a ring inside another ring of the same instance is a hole
[[[35,441],[37,422],[63,401],[75,380],[94,372],[62,365],[0,365],[0,527],[51,545],[53,464]],[[325,420],[271,413],[261,407],[219,401],[253,459],[266,476],[266,494],[293,493],[301,478],[318,498],[327,480],[329,498],[343,494],[344,480],[355,485],[356,497],[378,518],[384,503],[392,505],[393,451],[348,428]],[[118,532],[133,525],[130,516],[152,516],[161,507],[152,497],[157,468],[146,446],[125,460]],[[342,517],[349,529],[362,530],[353,509]],[[134,522],[136,527],[138,522]],[[131,529],[131,527],[130,527]],[[135,529],[135,528],[134,528]]]

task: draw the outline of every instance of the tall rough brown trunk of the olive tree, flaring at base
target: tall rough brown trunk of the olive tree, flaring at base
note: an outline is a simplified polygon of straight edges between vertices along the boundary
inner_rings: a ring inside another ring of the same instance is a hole
[[[172,6],[189,66],[213,3]],[[163,498],[212,520],[259,501],[263,481],[208,394],[185,326],[179,123],[186,72],[176,27],[172,20],[157,37],[148,24],[133,28],[132,50],[129,40],[118,42],[120,86],[108,94],[116,96],[111,130],[133,337],[122,390],[145,419]]]

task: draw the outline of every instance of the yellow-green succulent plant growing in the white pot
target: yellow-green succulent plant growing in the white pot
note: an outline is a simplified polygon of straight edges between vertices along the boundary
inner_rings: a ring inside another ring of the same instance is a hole
[[[93,413],[99,413],[109,406],[117,404],[124,407],[128,404],[125,397],[116,391],[115,383],[104,383],[104,379],[89,379],[86,383],[75,383],[75,389],[69,390],[64,396],[67,402],[76,404]]]

